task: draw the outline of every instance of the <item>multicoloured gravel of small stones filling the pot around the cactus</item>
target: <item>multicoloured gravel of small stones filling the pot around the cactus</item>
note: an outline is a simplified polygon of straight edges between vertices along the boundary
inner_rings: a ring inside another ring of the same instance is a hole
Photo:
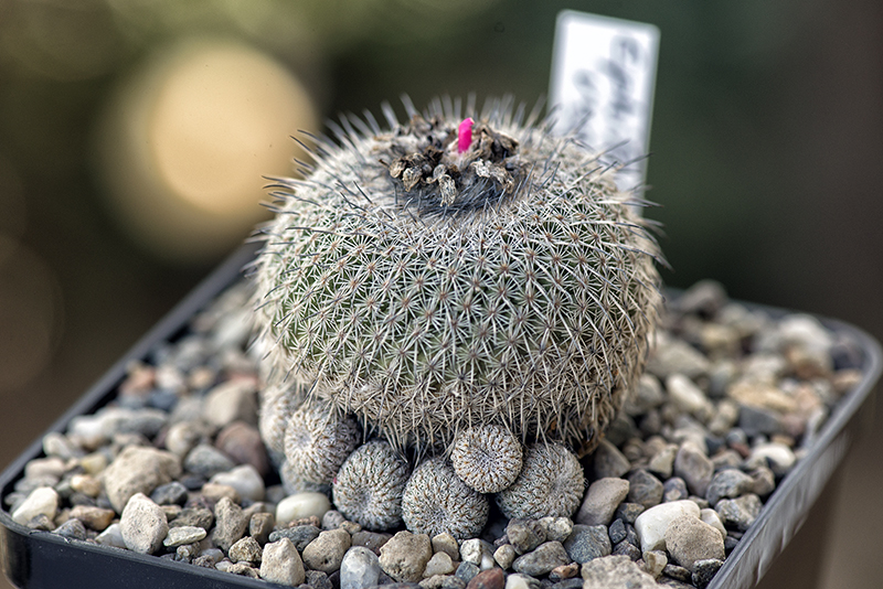
[[[292,493],[257,431],[242,283],[134,362],[118,397],[43,439],[3,497],[18,524],[301,589],[704,588],[859,382],[857,346],[701,282],[670,301],[647,373],[571,517],[457,542],[362,529]],[[312,491],[312,490],[310,490]],[[306,583],[306,585],[304,585]]]

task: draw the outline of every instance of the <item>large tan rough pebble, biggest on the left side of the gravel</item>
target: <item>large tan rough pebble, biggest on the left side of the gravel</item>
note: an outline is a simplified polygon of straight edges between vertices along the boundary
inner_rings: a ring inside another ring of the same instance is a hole
[[[102,473],[107,499],[121,513],[136,493],[149,495],[157,486],[181,474],[181,463],[171,452],[130,446]]]

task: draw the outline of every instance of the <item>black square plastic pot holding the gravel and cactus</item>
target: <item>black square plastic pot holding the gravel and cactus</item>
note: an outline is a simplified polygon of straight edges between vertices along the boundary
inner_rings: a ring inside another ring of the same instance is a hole
[[[75,416],[95,413],[114,398],[117,386],[126,376],[127,364],[132,360],[146,358],[159,343],[180,338],[193,314],[238,278],[240,270],[253,258],[254,253],[254,246],[246,246],[231,256],[120,358],[49,431],[64,431]],[[784,312],[763,307],[759,309],[772,314]],[[808,456],[778,485],[760,516],[726,559],[709,589],[747,589],[760,580],[773,560],[800,529],[810,507],[854,440],[870,425],[873,415],[872,390],[883,370],[880,344],[852,325],[834,320],[821,321],[829,329],[848,335],[861,347],[863,377],[838,404]],[[42,451],[41,437],[0,475],[2,496],[12,491],[15,481],[24,475],[25,464],[41,457]],[[22,588],[280,587],[214,569],[32,531],[13,522],[10,514],[2,510],[0,565],[12,583]]]

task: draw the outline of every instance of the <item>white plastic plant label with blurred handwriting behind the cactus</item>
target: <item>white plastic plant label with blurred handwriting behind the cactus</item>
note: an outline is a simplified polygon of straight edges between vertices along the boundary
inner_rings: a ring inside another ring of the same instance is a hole
[[[558,14],[550,103],[555,130],[576,130],[604,161],[627,163],[621,190],[643,183],[659,29],[572,10]]]

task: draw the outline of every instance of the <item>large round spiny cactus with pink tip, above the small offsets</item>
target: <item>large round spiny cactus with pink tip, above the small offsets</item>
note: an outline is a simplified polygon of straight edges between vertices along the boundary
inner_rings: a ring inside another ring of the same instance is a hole
[[[603,156],[509,100],[460,106],[342,117],[276,181],[264,374],[397,449],[497,425],[585,453],[643,368],[658,247]]]

